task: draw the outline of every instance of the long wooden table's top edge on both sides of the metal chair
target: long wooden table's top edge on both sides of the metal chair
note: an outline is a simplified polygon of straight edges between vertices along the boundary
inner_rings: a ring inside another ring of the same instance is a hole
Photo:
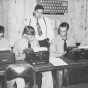
[[[0,70],[1,71],[5,70],[8,65],[9,64],[0,65]],[[43,71],[61,70],[63,68],[72,68],[72,67],[86,66],[86,65],[88,65],[88,61],[72,62],[68,65],[62,65],[62,66],[53,66],[51,63],[48,63],[43,65],[35,65],[34,69],[35,69],[35,72],[43,72]]]

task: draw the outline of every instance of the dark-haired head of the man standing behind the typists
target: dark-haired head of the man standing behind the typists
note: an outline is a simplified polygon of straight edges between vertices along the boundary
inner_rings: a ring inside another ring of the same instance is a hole
[[[40,19],[43,15],[44,8],[42,5],[36,5],[34,9],[34,16],[36,19]]]

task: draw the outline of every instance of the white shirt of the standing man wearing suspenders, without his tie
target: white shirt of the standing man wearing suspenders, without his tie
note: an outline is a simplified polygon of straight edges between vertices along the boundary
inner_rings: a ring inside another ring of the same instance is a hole
[[[54,37],[54,31],[53,31],[53,28],[52,28],[52,25],[51,25],[49,19],[46,17],[41,17],[38,20],[38,22],[39,22],[41,30],[43,32],[43,34],[41,36],[39,36],[38,32],[37,32],[37,25],[36,25],[37,19],[35,17],[32,17],[29,22],[29,25],[33,26],[35,29],[35,32],[36,32],[35,38],[38,40],[44,40],[46,38],[49,38],[49,40],[51,41],[52,38]]]

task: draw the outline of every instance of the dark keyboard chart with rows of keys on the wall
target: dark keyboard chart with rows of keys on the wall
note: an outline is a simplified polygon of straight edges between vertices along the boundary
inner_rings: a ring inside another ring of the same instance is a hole
[[[68,13],[68,1],[58,0],[37,0],[37,4],[43,5],[43,14],[64,14]]]

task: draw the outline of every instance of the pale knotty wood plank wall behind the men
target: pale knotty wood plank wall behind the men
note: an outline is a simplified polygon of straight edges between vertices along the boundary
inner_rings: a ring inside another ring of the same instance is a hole
[[[22,30],[28,25],[36,0],[0,0],[0,25],[5,27],[5,36],[11,46],[21,37]],[[55,35],[59,24],[66,21],[70,25],[69,34],[75,42],[88,36],[88,0],[68,0],[68,13],[47,16],[51,20]]]

